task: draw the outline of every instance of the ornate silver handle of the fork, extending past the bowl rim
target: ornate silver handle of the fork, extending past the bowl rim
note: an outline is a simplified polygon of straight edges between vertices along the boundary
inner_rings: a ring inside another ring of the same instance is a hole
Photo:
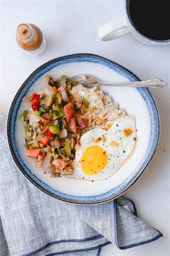
[[[118,84],[107,84],[99,82],[102,86],[118,86],[118,87],[150,87],[150,88],[162,88],[167,85],[165,81],[161,79],[152,79],[147,81],[135,81],[135,82],[124,82]]]

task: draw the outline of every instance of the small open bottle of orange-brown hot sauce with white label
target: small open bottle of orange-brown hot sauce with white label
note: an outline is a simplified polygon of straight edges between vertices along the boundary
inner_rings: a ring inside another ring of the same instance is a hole
[[[20,24],[16,31],[16,41],[25,53],[32,56],[43,53],[46,48],[46,39],[34,24]]]

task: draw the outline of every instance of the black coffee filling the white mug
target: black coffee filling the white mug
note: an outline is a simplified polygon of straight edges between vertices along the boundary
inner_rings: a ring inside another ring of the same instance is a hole
[[[144,36],[170,40],[169,0],[130,0],[129,14],[136,29]]]

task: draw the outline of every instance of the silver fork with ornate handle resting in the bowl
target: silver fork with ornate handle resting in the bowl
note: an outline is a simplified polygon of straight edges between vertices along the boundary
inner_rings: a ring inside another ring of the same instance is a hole
[[[93,87],[93,86],[119,86],[119,87],[150,87],[150,88],[162,88],[167,85],[165,81],[161,79],[152,79],[147,81],[135,81],[135,82],[123,82],[123,83],[103,83],[98,81],[96,78],[90,75],[75,75],[67,77],[69,81],[76,81],[77,84],[84,84],[86,87]]]

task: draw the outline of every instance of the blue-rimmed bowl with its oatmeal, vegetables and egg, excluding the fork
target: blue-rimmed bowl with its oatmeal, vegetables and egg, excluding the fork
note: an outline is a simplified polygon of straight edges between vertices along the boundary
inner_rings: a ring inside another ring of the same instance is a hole
[[[159,140],[159,114],[148,89],[67,81],[80,73],[104,82],[139,80],[93,54],[51,60],[15,95],[8,143],[18,169],[43,192],[70,203],[103,203],[124,193],[146,169]]]

